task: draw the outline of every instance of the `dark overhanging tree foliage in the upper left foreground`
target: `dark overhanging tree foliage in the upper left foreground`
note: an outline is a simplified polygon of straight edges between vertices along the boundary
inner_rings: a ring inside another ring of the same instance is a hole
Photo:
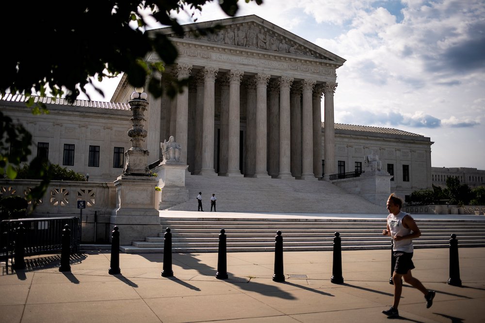
[[[144,87],[155,97],[163,94],[162,77],[170,78],[175,95],[187,80],[178,81],[165,75],[164,66],[173,64],[178,52],[166,35],[146,32],[151,25],[171,27],[177,36],[183,28],[174,13],[194,14],[213,0],[79,0],[31,1],[25,7],[20,2],[2,3],[3,23],[15,36],[15,30],[25,37],[13,37],[15,44],[2,51],[0,64],[0,94],[21,93],[29,98],[34,113],[46,110],[33,104],[34,95],[65,96],[74,100],[86,93],[96,77],[116,77],[125,73],[133,87]],[[262,0],[255,1],[261,4]],[[236,15],[238,0],[218,1],[229,16]],[[195,20],[194,20],[195,21]],[[196,29],[198,34],[217,30]],[[156,52],[161,62],[146,62],[147,54]],[[86,93],[87,95],[87,93]],[[89,97],[89,95],[88,95]],[[20,124],[0,113],[0,175],[16,177],[16,167],[31,153],[32,137]],[[33,165],[35,166],[35,165]],[[43,194],[47,185],[41,187]]]

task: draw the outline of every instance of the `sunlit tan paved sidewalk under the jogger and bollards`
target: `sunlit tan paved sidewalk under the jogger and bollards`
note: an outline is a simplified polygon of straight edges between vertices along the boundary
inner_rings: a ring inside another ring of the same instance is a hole
[[[25,271],[1,267],[0,322],[389,322],[390,250],[342,251],[343,284],[333,284],[331,251],[284,253],[286,282],[274,282],[273,252],[227,253],[228,279],[215,277],[217,253],[173,254],[174,277],[162,277],[163,254],[120,254],[109,275],[109,250],[71,258],[29,258]],[[485,318],[485,248],[460,248],[463,287],[447,284],[449,249],[417,249],[413,271],[436,290],[432,308],[404,284],[399,307],[410,322],[474,323]],[[4,265],[4,263],[3,263]]]

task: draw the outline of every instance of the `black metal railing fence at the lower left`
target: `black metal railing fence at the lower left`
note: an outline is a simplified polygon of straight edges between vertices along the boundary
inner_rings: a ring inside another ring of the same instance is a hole
[[[22,223],[23,230],[19,229]],[[22,236],[24,255],[40,255],[61,251],[62,233],[65,225],[71,230],[71,254],[79,252],[81,244],[81,223],[76,216],[38,217],[0,222],[0,260],[6,261],[7,268],[15,256],[17,232]]]

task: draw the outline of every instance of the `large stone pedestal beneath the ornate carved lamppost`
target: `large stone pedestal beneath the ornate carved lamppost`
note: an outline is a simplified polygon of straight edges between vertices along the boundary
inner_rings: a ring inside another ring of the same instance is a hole
[[[145,241],[145,237],[162,232],[159,211],[155,209],[156,185],[152,176],[121,175],[114,181],[116,208],[110,226],[111,230],[115,225],[119,228],[121,245]]]

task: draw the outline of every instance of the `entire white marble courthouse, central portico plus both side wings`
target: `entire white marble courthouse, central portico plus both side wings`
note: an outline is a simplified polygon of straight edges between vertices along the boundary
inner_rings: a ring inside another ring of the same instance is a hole
[[[431,187],[430,138],[334,123],[343,58],[255,15],[197,23],[216,24],[223,28],[201,37],[189,31],[193,24],[183,26],[182,38],[170,29],[149,31],[170,36],[179,56],[168,69],[191,77],[175,98],[147,93],[149,163],[162,159],[161,142],[170,136],[181,147],[180,162],[200,176],[328,180],[363,170],[374,152],[382,170],[394,175],[392,191]],[[0,108],[32,132],[33,154],[47,149],[52,163],[113,181],[130,147],[132,92],[124,76],[108,103],[40,98],[51,113],[32,116],[21,96],[5,94]]]

